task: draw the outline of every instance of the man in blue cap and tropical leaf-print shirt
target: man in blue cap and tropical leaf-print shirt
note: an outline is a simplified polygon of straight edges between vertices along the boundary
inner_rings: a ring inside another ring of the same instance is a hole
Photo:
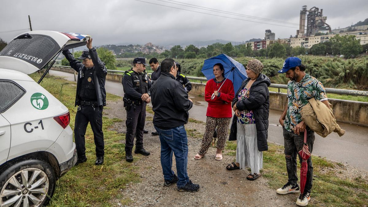
[[[315,140],[314,131],[301,119],[301,108],[307,105],[308,100],[315,98],[329,107],[326,90],[323,84],[315,77],[305,73],[305,66],[298,57],[288,57],[281,70],[278,73],[285,73],[290,79],[287,84],[287,105],[280,117],[280,124],[283,126],[286,169],[288,182],[277,189],[278,194],[300,193],[297,184],[297,155],[303,148],[304,130],[307,130],[307,144],[312,153]],[[299,156],[300,163],[302,158]],[[313,166],[311,157],[307,160],[308,172],[307,182],[305,183],[304,193],[300,194],[296,204],[298,206],[307,206],[311,198]]]

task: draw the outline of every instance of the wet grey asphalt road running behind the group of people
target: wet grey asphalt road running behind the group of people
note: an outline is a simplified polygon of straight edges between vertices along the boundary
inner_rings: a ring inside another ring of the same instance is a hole
[[[50,74],[74,81],[74,75],[71,73],[50,70]],[[121,83],[106,81],[105,88],[111,94],[121,97],[124,96],[123,85]],[[195,95],[190,95],[190,98],[195,103],[189,111],[190,117],[205,122],[207,102],[203,97]],[[270,110],[268,141],[283,145],[282,127],[279,126],[281,113],[277,110]],[[342,137],[339,137],[337,133],[329,134],[325,138],[315,134],[316,140],[312,154],[368,171],[368,162],[366,161],[368,152],[368,127],[346,123],[339,123],[339,125],[342,129],[346,130],[346,133]]]

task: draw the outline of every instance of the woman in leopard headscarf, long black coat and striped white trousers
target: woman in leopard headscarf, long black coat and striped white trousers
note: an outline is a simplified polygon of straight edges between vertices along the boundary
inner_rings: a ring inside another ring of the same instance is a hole
[[[236,162],[226,169],[251,168],[248,180],[259,178],[263,166],[262,151],[268,150],[268,115],[270,79],[262,74],[263,64],[257,60],[249,60],[246,66],[248,78],[233,99],[235,112],[230,130],[230,139],[237,140]]]

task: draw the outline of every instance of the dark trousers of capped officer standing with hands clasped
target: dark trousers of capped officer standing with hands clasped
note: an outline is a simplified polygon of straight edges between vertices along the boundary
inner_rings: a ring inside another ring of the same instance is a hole
[[[141,105],[131,105],[127,110],[127,133],[125,134],[125,155],[132,154],[135,140],[135,149],[143,148],[143,128],[146,121],[146,102]]]

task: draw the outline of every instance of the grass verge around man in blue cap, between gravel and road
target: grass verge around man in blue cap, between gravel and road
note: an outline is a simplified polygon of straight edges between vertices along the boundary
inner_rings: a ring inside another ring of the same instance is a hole
[[[236,155],[236,141],[228,141],[226,155]],[[345,179],[336,175],[336,168],[341,163],[335,163],[325,158],[312,155],[313,187],[312,202],[308,206],[364,206],[368,203],[368,181],[361,177]],[[324,171],[323,171],[324,170]],[[300,164],[298,162],[298,177]],[[262,176],[267,178],[272,189],[282,187],[287,182],[284,147],[269,143],[269,150],[263,152]]]

